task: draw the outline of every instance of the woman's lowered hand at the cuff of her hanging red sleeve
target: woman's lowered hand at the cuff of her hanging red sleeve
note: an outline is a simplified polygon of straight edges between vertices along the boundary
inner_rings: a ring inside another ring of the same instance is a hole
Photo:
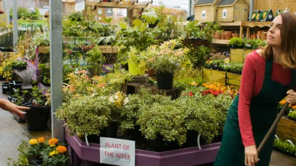
[[[244,164],[246,166],[255,166],[259,161],[256,145],[244,148]]]

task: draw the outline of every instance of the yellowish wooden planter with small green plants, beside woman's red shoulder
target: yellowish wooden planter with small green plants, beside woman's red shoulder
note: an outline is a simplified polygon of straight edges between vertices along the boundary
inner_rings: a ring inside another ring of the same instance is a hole
[[[227,63],[224,59],[206,61],[203,82],[240,86],[242,63]]]

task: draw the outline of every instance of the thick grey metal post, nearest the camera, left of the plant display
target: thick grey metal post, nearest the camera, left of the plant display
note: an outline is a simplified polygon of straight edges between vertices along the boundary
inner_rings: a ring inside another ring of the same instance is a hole
[[[56,109],[62,105],[63,57],[62,57],[62,0],[50,0],[50,73],[52,137],[64,141],[63,121],[56,119]]]

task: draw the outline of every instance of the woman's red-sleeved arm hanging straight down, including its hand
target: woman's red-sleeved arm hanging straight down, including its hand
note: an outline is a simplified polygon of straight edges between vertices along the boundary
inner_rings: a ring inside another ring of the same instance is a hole
[[[258,163],[257,147],[254,140],[252,122],[250,116],[250,104],[253,97],[256,80],[256,69],[252,63],[252,57],[247,56],[244,62],[239,96],[239,126],[242,143],[245,147],[245,165],[254,166]]]

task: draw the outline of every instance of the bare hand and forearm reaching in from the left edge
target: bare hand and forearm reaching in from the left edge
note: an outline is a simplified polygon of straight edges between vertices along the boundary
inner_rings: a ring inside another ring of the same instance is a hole
[[[11,112],[12,114],[17,114],[21,118],[23,118],[24,115],[26,114],[26,112],[23,112],[22,110],[30,110],[30,108],[28,107],[18,106],[7,100],[1,100],[1,108],[3,110]]]

